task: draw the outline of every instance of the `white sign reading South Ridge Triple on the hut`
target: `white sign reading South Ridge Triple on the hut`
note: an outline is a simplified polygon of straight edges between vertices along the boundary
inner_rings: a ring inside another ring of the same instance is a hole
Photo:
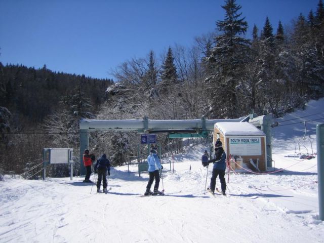
[[[229,138],[229,152],[233,155],[261,155],[261,137]]]

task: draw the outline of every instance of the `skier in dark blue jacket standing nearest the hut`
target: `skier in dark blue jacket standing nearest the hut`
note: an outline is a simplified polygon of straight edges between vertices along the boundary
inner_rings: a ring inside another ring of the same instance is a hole
[[[216,178],[219,175],[219,180],[221,182],[222,194],[226,195],[226,181],[225,181],[225,170],[226,170],[226,153],[223,149],[222,142],[217,139],[215,143],[215,154],[213,159],[208,160],[204,163],[204,166],[208,166],[209,163],[214,163],[213,173],[211,178],[210,190],[214,194],[216,186]]]

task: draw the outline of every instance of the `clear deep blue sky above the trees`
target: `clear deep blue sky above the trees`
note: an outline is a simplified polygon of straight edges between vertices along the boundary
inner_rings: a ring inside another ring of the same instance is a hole
[[[318,0],[237,0],[249,24],[269,17],[287,25],[316,11]],[[158,57],[169,46],[190,47],[224,19],[223,0],[0,0],[0,62],[112,77],[133,57]]]

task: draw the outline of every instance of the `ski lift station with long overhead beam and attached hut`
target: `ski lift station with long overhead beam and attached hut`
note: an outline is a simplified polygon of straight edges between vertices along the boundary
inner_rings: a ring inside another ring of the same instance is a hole
[[[214,133],[213,139],[215,140],[219,133],[220,138],[223,139],[223,144],[225,144],[227,154],[235,153],[233,155],[242,156],[244,159],[259,159],[259,165],[254,169],[258,168],[259,170],[265,171],[267,167],[272,167],[272,120],[271,115],[255,116],[256,114],[251,114],[247,117],[237,119],[206,119],[203,117],[192,120],[150,120],[148,117],[124,120],[82,119],[79,124],[81,172],[82,174],[85,173],[85,168],[83,167],[83,151],[89,149],[89,133],[98,130],[136,132],[139,134],[165,133],[171,139],[207,138],[210,133]],[[216,133],[214,129],[217,131]],[[235,134],[233,134],[233,131],[235,131]],[[249,134],[247,134],[247,131],[249,131]],[[236,138],[236,140],[230,140],[230,138]],[[250,143],[235,144],[233,141],[238,141],[238,138],[253,138],[254,140],[253,142],[249,140]]]

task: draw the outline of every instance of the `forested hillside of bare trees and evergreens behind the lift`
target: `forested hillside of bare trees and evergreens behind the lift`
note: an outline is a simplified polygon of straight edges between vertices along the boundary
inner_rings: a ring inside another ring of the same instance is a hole
[[[324,95],[324,7],[296,16],[290,26],[245,21],[235,0],[225,18],[195,45],[175,45],[157,59],[121,63],[112,80],[1,65],[2,150],[0,168],[22,173],[41,159],[42,147],[78,151],[78,120],[236,118],[255,113],[279,117]],[[248,26],[254,26],[252,37]],[[111,86],[110,86],[111,85]],[[37,132],[39,130],[39,132]],[[137,153],[136,134],[91,134],[91,147],[113,165]],[[169,141],[163,135],[161,143]],[[174,149],[181,150],[179,142]],[[17,151],[19,149],[19,152]],[[14,163],[12,163],[14,161]],[[9,164],[10,162],[10,164]],[[53,167],[51,175],[66,175]],[[64,168],[64,166],[62,166]],[[76,169],[78,166],[76,165]]]

